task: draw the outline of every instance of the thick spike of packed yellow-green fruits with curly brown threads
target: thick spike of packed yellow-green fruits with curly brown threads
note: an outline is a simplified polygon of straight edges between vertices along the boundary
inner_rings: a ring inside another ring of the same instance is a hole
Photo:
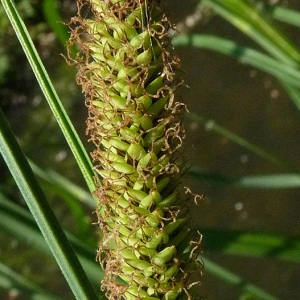
[[[161,2],[80,1],[71,22],[70,44],[81,48],[72,60],[102,178],[95,191],[103,232],[98,258],[109,299],[191,299],[199,243],[191,241],[187,196],[177,188],[185,106],[174,97],[179,61]]]

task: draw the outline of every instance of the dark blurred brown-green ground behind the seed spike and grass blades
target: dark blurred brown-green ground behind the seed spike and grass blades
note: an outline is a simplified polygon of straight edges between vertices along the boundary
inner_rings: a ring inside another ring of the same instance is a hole
[[[55,5],[60,20],[67,23],[76,15],[75,1],[15,2],[58,95],[86,148],[91,150],[92,145],[87,143],[85,136],[87,110],[80,87],[75,82],[76,70],[66,64],[63,57],[66,54],[63,46],[65,37],[55,31],[49,17],[49,13],[51,15],[54,11],[49,10],[49,5]],[[258,48],[250,38],[216,13],[209,9],[197,11],[199,1],[165,2],[171,20],[180,32],[226,37]],[[272,4],[272,1],[248,2]],[[275,4],[300,11],[299,1],[277,1]],[[275,25],[300,47],[299,28],[280,22]],[[181,90],[180,97],[188,110],[202,120],[197,122],[190,116],[185,118],[185,156],[190,172],[184,178],[184,185],[191,187],[194,193],[205,195],[192,210],[193,226],[204,235],[203,254],[205,258],[241,276],[245,283],[251,282],[273,295],[273,299],[299,299],[299,260],[276,258],[276,253],[242,255],[239,250],[229,253],[224,246],[226,241],[234,240],[240,233],[244,234],[244,238],[249,233],[255,233],[262,240],[266,238],[264,234],[279,235],[285,238],[279,245],[282,249],[293,247],[291,243],[294,239],[298,239],[299,245],[299,185],[293,188],[265,188],[263,185],[247,187],[231,184],[237,178],[296,173],[300,169],[299,111],[278,81],[267,73],[235,58],[205,49],[178,46],[175,51],[181,59],[182,75],[188,85]],[[2,6],[0,105],[30,160],[41,169],[55,170],[86,189]],[[232,142],[226,135],[217,134],[212,130],[215,124],[259,145],[292,167],[288,169],[272,164]],[[197,176],[194,170],[197,170]],[[97,227],[92,225],[96,221],[94,209],[82,205],[84,214],[79,212],[76,215],[72,208],[74,202],[63,201],[61,193],[45,183],[44,188],[63,227],[96,249],[98,233]],[[2,159],[0,192],[11,201],[26,206]],[[82,220],[78,222],[80,217]],[[247,242],[243,246],[247,248]],[[280,247],[277,249],[279,252]],[[62,299],[73,299],[51,256],[45,256],[2,228],[0,262]],[[199,295],[208,300],[259,299],[241,292],[239,286],[231,285],[209,271],[205,271],[202,278]],[[0,287],[0,299],[28,298],[17,289]]]

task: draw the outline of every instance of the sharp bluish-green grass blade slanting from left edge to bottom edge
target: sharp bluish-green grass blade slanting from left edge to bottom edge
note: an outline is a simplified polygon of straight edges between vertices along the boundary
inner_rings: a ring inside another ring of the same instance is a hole
[[[0,110],[0,152],[76,299],[95,299],[73,249]]]

